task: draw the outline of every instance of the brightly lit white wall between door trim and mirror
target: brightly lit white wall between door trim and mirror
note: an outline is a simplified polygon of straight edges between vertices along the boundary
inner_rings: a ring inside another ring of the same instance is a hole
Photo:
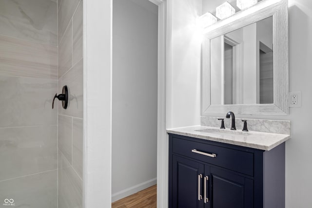
[[[200,124],[202,0],[170,0],[167,7],[167,128]]]

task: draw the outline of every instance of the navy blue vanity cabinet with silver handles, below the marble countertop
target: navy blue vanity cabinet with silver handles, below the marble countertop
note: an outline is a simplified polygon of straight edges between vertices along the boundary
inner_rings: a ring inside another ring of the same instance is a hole
[[[285,143],[262,151],[169,134],[169,208],[285,208]]]

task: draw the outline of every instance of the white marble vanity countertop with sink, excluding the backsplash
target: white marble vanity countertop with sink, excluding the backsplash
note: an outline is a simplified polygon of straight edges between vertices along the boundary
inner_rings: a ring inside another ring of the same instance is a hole
[[[205,132],[206,131],[206,132]],[[192,126],[167,129],[168,133],[270,151],[291,138],[288,134],[220,130],[216,127]]]

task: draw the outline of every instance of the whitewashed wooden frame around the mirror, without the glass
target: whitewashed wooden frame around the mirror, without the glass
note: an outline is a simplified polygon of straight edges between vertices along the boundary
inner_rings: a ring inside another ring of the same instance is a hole
[[[210,40],[273,16],[273,104],[211,105]],[[205,28],[202,44],[201,115],[212,113],[287,115],[289,98],[288,0],[262,0]]]

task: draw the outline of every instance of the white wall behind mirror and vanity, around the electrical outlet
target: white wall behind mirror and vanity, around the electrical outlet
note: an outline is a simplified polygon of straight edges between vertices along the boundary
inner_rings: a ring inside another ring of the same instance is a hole
[[[233,2],[231,0],[230,2]],[[219,0],[203,1],[203,12],[215,11]],[[286,142],[286,208],[311,207],[312,193],[312,1],[289,0],[290,92],[301,91],[301,108],[288,116],[236,115],[236,117],[290,120],[292,138]],[[223,114],[211,114],[225,116]]]

